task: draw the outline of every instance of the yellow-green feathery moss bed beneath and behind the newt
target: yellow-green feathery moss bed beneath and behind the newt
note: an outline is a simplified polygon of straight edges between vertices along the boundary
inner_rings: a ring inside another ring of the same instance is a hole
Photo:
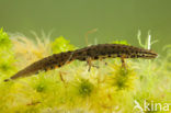
[[[58,69],[3,82],[29,64],[76,46],[62,36],[54,42],[37,38],[39,43],[22,36],[10,39],[5,32],[1,32],[2,36],[8,43],[0,52],[0,113],[164,113],[160,108],[145,111],[145,100],[149,110],[155,103],[171,103],[170,46],[164,48],[164,58],[126,59],[126,68],[122,68],[119,58],[109,58],[93,61],[99,68],[88,71],[86,63],[75,60]],[[151,46],[149,38],[142,45],[146,48]],[[141,110],[135,109],[136,102]]]

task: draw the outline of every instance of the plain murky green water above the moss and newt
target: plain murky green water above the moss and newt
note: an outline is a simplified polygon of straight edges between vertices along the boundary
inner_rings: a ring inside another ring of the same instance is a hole
[[[45,33],[54,30],[53,37],[64,35],[78,46],[89,43],[126,39],[138,45],[137,31],[146,38],[159,39],[157,52],[171,44],[170,0],[0,0],[0,26],[8,32],[31,35],[30,30]]]

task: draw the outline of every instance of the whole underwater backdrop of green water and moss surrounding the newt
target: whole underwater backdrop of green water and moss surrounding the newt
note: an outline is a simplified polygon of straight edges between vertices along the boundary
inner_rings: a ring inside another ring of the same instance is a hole
[[[171,113],[170,0],[0,0],[0,113]],[[75,60],[4,82],[53,54],[94,44],[150,48],[156,59]],[[146,108],[147,106],[147,108]]]

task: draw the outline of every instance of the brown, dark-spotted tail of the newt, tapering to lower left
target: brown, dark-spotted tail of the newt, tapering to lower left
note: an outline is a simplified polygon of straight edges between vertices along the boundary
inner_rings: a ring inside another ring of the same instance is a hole
[[[29,77],[29,76],[38,74],[38,71],[42,71],[42,70],[46,71],[46,70],[50,70],[50,69],[54,69],[57,67],[61,67],[61,66],[70,63],[71,60],[73,60],[72,52],[54,54],[54,55],[43,58],[36,63],[33,63],[32,65],[20,70],[19,72],[13,75],[10,79],[5,79],[4,81],[9,81],[11,79],[18,79],[20,77]]]

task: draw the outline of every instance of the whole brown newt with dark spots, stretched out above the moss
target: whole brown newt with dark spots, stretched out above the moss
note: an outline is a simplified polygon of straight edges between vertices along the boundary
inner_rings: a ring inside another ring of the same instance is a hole
[[[124,58],[156,58],[157,54],[149,49],[138,48],[123,44],[92,45],[81,49],[54,54],[52,56],[43,58],[20,70],[10,79],[26,77],[37,74],[41,70],[49,70],[54,69],[55,67],[61,67],[76,59],[87,61],[89,64],[89,67],[91,67],[91,60],[115,57],[121,57],[122,64],[124,66]],[[4,81],[9,81],[10,79],[7,79]]]

